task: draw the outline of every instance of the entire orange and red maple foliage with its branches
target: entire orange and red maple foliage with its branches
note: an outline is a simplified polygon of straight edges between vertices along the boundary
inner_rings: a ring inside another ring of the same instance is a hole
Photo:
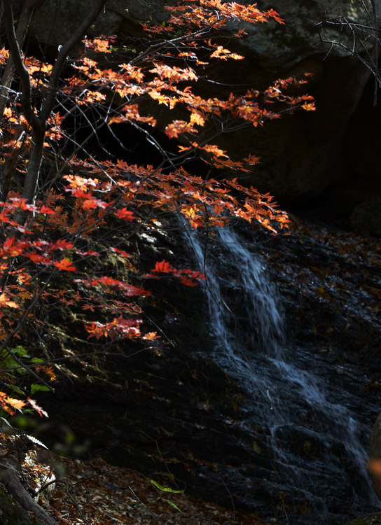
[[[0,355],[8,356],[30,323],[42,325],[44,316],[62,308],[81,312],[78,318],[88,337],[149,343],[158,335],[142,323],[144,300],[150,294],[140,282],[178,279],[182,285],[195,286],[205,276],[177,268],[165,259],[156,261],[152,269],[141,269],[137,258],[127,251],[131,239],[160,228],[160,216],[171,214],[183,216],[191,228],[207,228],[211,235],[213,228],[223,227],[232,218],[262,225],[275,234],[287,228],[288,218],[272,197],[245,188],[233,176],[218,180],[219,169],[232,174],[248,172],[258,158],[248,155],[232,160],[214,143],[223,133],[261,126],[282,113],[313,110],[307,94],[286,94],[291,85],[304,80],[277,80],[263,92],[249,89],[244,94],[235,93],[233,86],[226,99],[194,93],[214,64],[243,59],[214,41],[228,22],[282,20],[273,10],[261,12],[251,5],[220,0],[181,3],[168,8],[165,25],[143,24],[142,29],[156,40],[141,41],[146,48],[139,52],[118,50],[117,63],[104,59],[116,52],[115,38],[85,38],[78,58],[69,59],[74,73],[62,78],[67,55],[97,18],[104,1],[95,3],[58,52],[54,65],[22,55],[11,5],[3,4],[10,49],[0,50],[0,66],[6,67],[8,60],[15,64],[22,111],[17,97],[9,97],[0,145],[4,165],[13,168],[9,191],[7,186],[0,203],[4,235],[0,242],[0,302],[9,315],[0,312]],[[234,38],[243,36],[239,29]],[[39,106],[34,100],[39,100]],[[158,123],[155,114],[146,109],[151,107],[148,102],[164,106],[167,120]],[[86,137],[71,137],[65,128],[69,119],[76,122],[76,118],[79,125],[87,127]],[[88,140],[97,137],[102,127],[114,130],[124,123],[151,141],[161,162],[134,165],[125,160],[102,160],[88,151]],[[168,151],[153,137],[155,127],[165,132],[176,151]],[[197,157],[207,165],[206,179],[184,167]],[[111,241],[110,231],[121,239]],[[109,253],[118,260],[111,269],[103,262]],[[32,320],[37,307],[39,316]],[[1,354],[4,351],[6,354]],[[51,363],[57,371],[60,358],[52,354]],[[40,377],[34,366],[17,355],[15,362],[34,379]],[[43,362],[46,366],[46,359]],[[11,381],[10,374],[4,371],[4,383]],[[12,411],[7,399],[1,398],[1,407]]]

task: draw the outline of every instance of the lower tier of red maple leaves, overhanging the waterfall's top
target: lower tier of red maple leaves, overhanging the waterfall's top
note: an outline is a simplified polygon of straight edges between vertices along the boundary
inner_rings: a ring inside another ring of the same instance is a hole
[[[74,167],[85,165],[89,173],[104,175],[109,170],[109,162],[71,162]],[[97,231],[106,227],[113,218],[114,221],[127,222],[129,228],[134,231],[144,221],[146,207],[153,209],[166,209],[182,214],[193,228],[202,225],[222,226],[230,217],[242,218],[246,221],[258,221],[265,228],[276,232],[275,228],[282,229],[287,225],[288,218],[284,212],[277,210],[272,198],[268,195],[260,195],[253,188],[244,188],[237,181],[226,181],[221,183],[214,180],[191,176],[183,167],[172,174],[163,174],[160,170],[156,172],[152,167],[137,167],[127,165],[123,161],[116,162],[112,167],[112,177],[101,180],[100,178],[83,178],[78,175],[67,175],[67,185],[64,188],[68,194],[65,198],[66,206],[62,206],[63,195],[50,193],[46,204],[27,204],[21,197],[11,197],[10,202],[2,203],[1,221],[4,229],[10,234],[6,236],[0,245],[0,277],[7,276],[8,282],[0,295],[0,302],[4,307],[18,309],[20,313],[36,293],[35,280],[41,272],[50,276],[58,270],[73,274],[74,284],[81,284],[81,292],[72,293],[75,302],[83,302],[86,309],[97,307],[99,303],[95,296],[83,290],[90,289],[97,292],[99,300],[104,301],[106,295],[118,295],[118,297],[145,296],[148,292],[144,288],[132,285],[130,282],[116,279],[108,275],[97,274],[90,276],[88,271],[80,267],[83,260],[95,258],[99,260],[102,255],[84,246],[94,246],[97,243]],[[124,174],[132,173],[136,181],[126,180]],[[233,194],[239,190],[246,195],[244,199]],[[70,204],[71,203],[71,204]],[[130,208],[130,209],[129,209]],[[134,211],[131,210],[134,209]],[[18,210],[27,213],[25,223],[15,221]],[[67,211],[71,209],[71,212]],[[230,216],[227,214],[230,212]],[[13,230],[21,231],[22,237],[11,235]],[[41,238],[53,238],[48,241]],[[81,237],[81,248],[78,246],[78,237]],[[128,259],[129,253],[118,247],[111,247],[113,253],[122,259]],[[17,262],[17,264],[16,264]],[[126,262],[126,264],[129,264]],[[132,271],[137,271],[131,267]],[[200,272],[191,269],[176,269],[169,262],[156,263],[155,268],[146,276],[158,276],[158,274],[171,274],[181,280],[187,286],[194,286],[196,281],[204,277]],[[40,287],[39,292],[43,300],[54,297],[64,304],[70,304],[65,290],[57,290],[53,286]],[[87,305],[87,306],[86,306]],[[102,307],[107,304],[102,303]],[[113,309],[111,300],[108,302],[109,311],[115,317],[109,323],[93,322],[90,326],[92,335],[126,335],[128,337],[140,337],[141,332],[139,320],[132,323],[131,320],[120,317],[120,301],[117,308]],[[130,302],[125,302],[124,310],[132,313]],[[14,316],[17,321],[18,316]],[[10,317],[4,312],[0,314],[1,323],[10,323]],[[1,329],[1,339],[6,338],[7,326]]]

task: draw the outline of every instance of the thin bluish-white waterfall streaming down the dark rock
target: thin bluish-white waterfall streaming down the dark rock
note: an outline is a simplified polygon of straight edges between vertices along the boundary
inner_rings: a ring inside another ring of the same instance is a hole
[[[321,356],[286,341],[275,285],[253,244],[232,228],[220,229],[212,240],[186,235],[207,276],[211,357],[244,389],[244,424],[263,428],[273,463],[268,483],[304,498],[313,516],[306,524],[341,523],[340,505],[378,506],[355,393],[335,384]],[[341,494],[335,494],[338,486],[344,487]],[[287,516],[286,522],[302,523]]]

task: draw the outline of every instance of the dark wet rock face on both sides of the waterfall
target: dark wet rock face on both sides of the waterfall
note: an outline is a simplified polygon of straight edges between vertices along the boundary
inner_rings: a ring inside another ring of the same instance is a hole
[[[266,393],[261,381],[248,388],[237,370],[224,366],[200,288],[152,281],[156,299],[147,312],[165,334],[161,342],[139,353],[130,342],[118,343],[102,365],[105,381],[64,381],[50,400],[41,393],[40,402],[52,423],[66,423],[78,442],[90,440],[92,454],[113,463],[149,475],[169,470],[187,491],[223,505],[233,499],[235,507],[256,510],[266,521],[341,525],[377,510],[366,457],[360,472],[349,447],[354,427],[339,426],[333,437],[321,428],[332,426],[332,410],[339,422],[351,414],[365,450],[379,412],[380,246],[303,222],[272,241],[251,228],[241,234],[242,246],[261,253],[281,294],[286,344],[299,370],[283,390],[275,385],[291,367],[268,369],[274,386]],[[221,260],[230,328],[240,345],[252,341],[246,360],[258,376],[268,359],[251,333],[242,268],[223,258],[223,246],[210,250]],[[177,257],[189,262],[190,255]],[[303,377],[312,374],[317,380],[304,381],[300,396]],[[324,390],[326,405],[317,400]],[[268,421],[285,407],[283,421],[270,428]],[[285,461],[290,456],[292,467]]]

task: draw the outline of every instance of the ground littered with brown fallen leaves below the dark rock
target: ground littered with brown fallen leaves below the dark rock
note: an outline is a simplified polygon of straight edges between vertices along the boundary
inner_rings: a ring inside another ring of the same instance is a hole
[[[41,482],[36,479],[49,479],[51,469],[35,459],[36,452],[29,452],[23,469],[28,484],[37,489]],[[159,484],[161,490],[139,472],[99,458],[82,461],[61,457],[54,470],[55,488],[48,496],[41,496],[39,503],[60,525],[264,524],[256,514],[226,510],[188,496],[186,488],[184,493],[174,493]],[[171,490],[182,490],[172,485]]]

